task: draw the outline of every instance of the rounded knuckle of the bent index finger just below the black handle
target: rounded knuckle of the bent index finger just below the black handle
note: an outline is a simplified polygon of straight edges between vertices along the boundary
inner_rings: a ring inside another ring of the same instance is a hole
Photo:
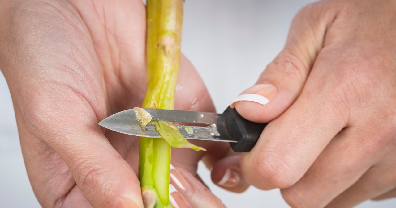
[[[262,189],[287,188],[295,184],[297,180],[294,176],[292,165],[284,158],[279,156],[264,156],[255,160],[254,171],[259,178],[265,183]]]

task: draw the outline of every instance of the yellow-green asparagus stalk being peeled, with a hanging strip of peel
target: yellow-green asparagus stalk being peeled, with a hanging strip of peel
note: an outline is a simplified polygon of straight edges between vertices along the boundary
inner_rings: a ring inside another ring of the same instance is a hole
[[[173,109],[180,62],[183,0],[147,0],[147,92],[143,108]],[[139,110],[137,110],[139,111]],[[135,111],[136,112],[136,111]],[[145,208],[170,208],[171,146],[204,150],[188,142],[172,122],[150,122],[164,138],[140,138],[139,180]],[[142,125],[143,124],[143,125]]]

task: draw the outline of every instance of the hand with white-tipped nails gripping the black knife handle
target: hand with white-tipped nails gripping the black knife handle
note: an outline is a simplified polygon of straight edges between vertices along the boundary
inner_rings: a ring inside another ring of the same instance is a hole
[[[227,168],[242,171],[259,189],[281,188],[293,208],[395,197],[395,14],[392,0],[327,0],[302,9],[284,50],[242,93],[269,103],[234,103],[249,120],[272,121],[241,167],[231,166],[238,157],[214,165],[213,181]]]

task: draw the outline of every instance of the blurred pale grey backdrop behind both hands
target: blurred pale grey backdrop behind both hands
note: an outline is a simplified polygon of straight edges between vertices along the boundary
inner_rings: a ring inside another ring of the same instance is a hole
[[[252,86],[280,52],[293,16],[313,0],[187,0],[182,51],[198,69],[218,112]],[[250,187],[235,194],[215,186],[200,164],[199,174],[229,208],[287,208],[279,190]],[[19,146],[6,81],[0,75],[0,207],[38,208]],[[396,199],[367,201],[358,208],[394,208]]]

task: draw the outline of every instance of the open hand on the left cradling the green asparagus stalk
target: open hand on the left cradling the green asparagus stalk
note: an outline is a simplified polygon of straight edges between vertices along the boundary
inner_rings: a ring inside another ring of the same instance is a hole
[[[9,0],[2,2],[0,16],[0,68],[40,204],[143,208],[136,175],[139,139],[97,124],[143,101],[143,2]],[[199,76],[184,56],[179,72],[175,108],[214,111],[202,80],[187,79]],[[210,149],[213,143],[198,145]],[[198,177],[204,154],[175,149],[172,163]],[[194,196],[223,207],[208,193]]]

